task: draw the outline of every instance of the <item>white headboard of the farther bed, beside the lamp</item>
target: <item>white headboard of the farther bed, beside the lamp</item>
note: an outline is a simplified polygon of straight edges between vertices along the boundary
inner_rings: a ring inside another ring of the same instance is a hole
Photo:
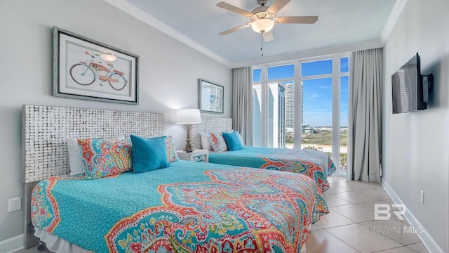
[[[200,124],[192,124],[192,146],[201,149],[201,133],[232,130],[232,118],[201,117]]]

